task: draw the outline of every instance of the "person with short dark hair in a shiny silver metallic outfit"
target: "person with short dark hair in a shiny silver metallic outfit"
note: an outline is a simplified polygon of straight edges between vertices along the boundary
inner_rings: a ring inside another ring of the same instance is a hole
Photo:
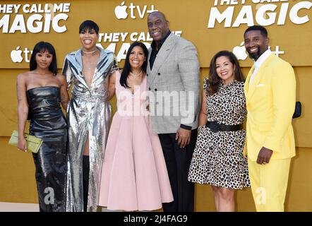
[[[118,70],[113,52],[96,46],[99,27],[85,20],[79,27],[82,48],[64,61],[71,100],[67,108],[68,174],[66,211],[97,211],[97,194],[111,107],[109,76]]]

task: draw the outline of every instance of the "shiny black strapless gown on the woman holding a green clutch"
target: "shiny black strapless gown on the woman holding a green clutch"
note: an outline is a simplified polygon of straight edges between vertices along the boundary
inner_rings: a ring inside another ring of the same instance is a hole
[[[43,140],[38,153],[32,153],[40,212],[65,211],[67,125],[59,92],[56,86],[26,92],[30,134]]]

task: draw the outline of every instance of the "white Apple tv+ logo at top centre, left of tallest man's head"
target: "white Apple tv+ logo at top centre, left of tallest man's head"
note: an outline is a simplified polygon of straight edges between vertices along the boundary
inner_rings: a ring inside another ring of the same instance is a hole
[[[132,2],[130,6],[125,6],[125,2],[123,1],[120,4],[120,6],[116,6],[115,8],[116,18],[119,20],[126,19],[128,17],[128,12],[127,12],[128,8],[130,9],[130,17],[132,19],[136,19],[136,15],[138,15],[139,18],[143,19],[146,13],[152,13],[154,11],[158,11],[158,10],[155,10],[154,5],[151,5],[150,9],[148,10],[148,6],[143,6],[143,8],[141,8],[141,6],[133,5]]]

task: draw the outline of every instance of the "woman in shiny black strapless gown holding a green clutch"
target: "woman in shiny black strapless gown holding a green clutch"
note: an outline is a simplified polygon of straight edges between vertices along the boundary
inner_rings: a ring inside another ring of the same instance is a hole
[[[52,44],[39,42],[30,59],[30,71],[17,78],[18,134],[23,134],[30,119],[30,134],[42,138],[36,167],[40,211],[65,210],[67,125],[61,105],[67,108],[66,79],[57,74],[56,54]],[[61,104],[61,105],[60,105]],[[23,136],[18,149],[27,150]]]

